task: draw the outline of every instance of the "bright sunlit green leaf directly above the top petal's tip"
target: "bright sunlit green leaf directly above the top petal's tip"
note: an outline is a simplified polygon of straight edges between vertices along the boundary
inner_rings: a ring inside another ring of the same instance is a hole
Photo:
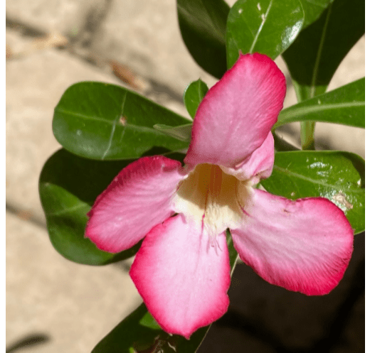
[[[305,15],[299,0],[238,0],[228,14],[228,68],[245,53],[277,58],[295,40]]]

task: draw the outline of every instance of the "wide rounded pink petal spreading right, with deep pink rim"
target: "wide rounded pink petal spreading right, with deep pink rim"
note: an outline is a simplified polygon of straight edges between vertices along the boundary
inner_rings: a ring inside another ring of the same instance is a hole
[[[327,294],[344,275],[354,232],[323,197],[296,201],[255,190],[243,228],[231,229],[240,259],[265,281],[307,295]]]

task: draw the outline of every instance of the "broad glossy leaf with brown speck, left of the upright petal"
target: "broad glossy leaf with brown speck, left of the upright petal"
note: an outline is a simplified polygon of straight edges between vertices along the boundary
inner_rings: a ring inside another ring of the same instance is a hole
[[[185,119],[129,89],[101,82],[70,86],[56,106],[53,133],[68,151],[85,158],[139,158],[153,148],[162,152],[187,143],[161,134],[155,124],[177,126]]]

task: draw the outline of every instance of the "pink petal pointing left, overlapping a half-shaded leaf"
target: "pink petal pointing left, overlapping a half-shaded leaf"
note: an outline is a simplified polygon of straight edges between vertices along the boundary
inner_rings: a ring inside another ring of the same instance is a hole
[[[152,227],[173,214],[172,198],[181,163],[144,157],[122,169],[88,213],[85,237],[112,253],[134,246]]]

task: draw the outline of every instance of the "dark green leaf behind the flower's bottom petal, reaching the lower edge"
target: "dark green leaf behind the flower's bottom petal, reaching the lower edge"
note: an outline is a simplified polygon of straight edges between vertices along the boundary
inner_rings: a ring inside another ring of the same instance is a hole
[[[231,275],[236,266],[238,253],[227,230]],[[93,349],[92,353],[176,352],[194,353],[206,336],[209,327],[201,327],[186,340],[179,335],[169,335],[160,329],[144,304],[134,310]]]

